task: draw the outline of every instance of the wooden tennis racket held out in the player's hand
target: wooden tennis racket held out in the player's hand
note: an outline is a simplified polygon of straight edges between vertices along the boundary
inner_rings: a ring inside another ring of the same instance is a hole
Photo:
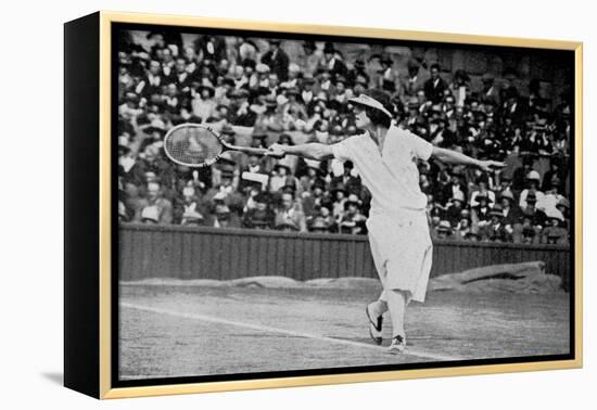
[[[240,151],[245,154],[269,155],[280,158],[266,149],[231,145],[212,128],[201,124],[180,124],[164,137],[164,151],[170,161],[188,167],[202,168],[215,164],[225,151]]]

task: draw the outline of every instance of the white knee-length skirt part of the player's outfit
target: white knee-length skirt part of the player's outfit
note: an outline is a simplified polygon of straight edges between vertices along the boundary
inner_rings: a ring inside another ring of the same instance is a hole
[[[372,213],[367,229],[383,290],[408,291],[414,300],[424,302],[433,256],[424,210]]]

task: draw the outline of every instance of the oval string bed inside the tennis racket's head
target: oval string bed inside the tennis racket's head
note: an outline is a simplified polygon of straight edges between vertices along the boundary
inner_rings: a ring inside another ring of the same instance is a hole
[[[223,151],[217,137],[200,127],[173,130],[164,142],[164,149],[176,162],[198,166],[216,161]]]

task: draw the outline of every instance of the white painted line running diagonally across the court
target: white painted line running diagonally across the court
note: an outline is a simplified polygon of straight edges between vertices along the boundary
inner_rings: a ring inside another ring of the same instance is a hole
[[[245,322],[237,322],[233,320],[223,319],[223,318],[216,318],[213,316],[206,316],[206,315],[200,315],[200,313],[186,313],[182,311],[177,310],[169,310],[169,309],[162,309],[162,308],[154,308],[151,306],[142,306],[142,305],[136,305],[136,304],[129,304],[126,302],[120,303],[122,307],[130,308],[130,309],[137,309],[137,310],[144,310],[144,311],[151,311],[154,313],[161,313],[161,315],[169,315],[169,316],[176,316],[178,318],[185,318],[185,319],[193,319],[193,320],[201,320],[204,322],[212,322],[212,323],[219,323],[219,324],[228,324],[231,326],[239,326],[239,328],[246,328],[246,329],[253,329],[261,332],[269,332],[269,333],[281,333],[289,336],[295,336],[295,337],[304,337],[304,338],[312,338],[315,341],[321,341],[321,342],[329,342],[334,343],[338,345],[345,345],[345,346],[352,346],[352,347],[360,347],[360,348],[369,348],[377,351],[385,351],[385,347],[372,345],[372,344],[366,344],[360,342],[353,342],[353,341],[346,341],[343,338],[335,338],[335,337],[328,337],[328,336],[321,336],[317,334],[312,333],[303,333],[303,332],[296,332],[292,330],[285,330],[285,329],[278,329],[278,328],[271,328],[263,324],[251,324]],[[446,356],[446,355],[436,355],[434,353],[419,350],[419,349],[412,349],[408,348],[406,349],[405,354],[422,357],[425,359],[433,359],[433,360],[440,360],[440,361],[454,361],[454,360],[462,360],[459,357],[455,356]]]

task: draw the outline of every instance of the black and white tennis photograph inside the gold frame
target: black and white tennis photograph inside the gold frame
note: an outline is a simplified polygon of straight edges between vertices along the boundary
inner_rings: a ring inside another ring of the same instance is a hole
[[[111,52],[114,386],[575,357],[573,51],[122,23]]]

